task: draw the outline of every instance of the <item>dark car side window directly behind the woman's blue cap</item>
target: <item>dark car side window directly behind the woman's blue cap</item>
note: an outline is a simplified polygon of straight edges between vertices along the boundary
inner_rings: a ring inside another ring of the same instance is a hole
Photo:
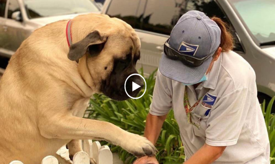
[[[180,17],[191,10],[204,12],[210,18],[221,18],[230,26],[235,50],[243,51],[233,26],[214,0],[150,0],[145,6],[141,29],[170,35]]]

